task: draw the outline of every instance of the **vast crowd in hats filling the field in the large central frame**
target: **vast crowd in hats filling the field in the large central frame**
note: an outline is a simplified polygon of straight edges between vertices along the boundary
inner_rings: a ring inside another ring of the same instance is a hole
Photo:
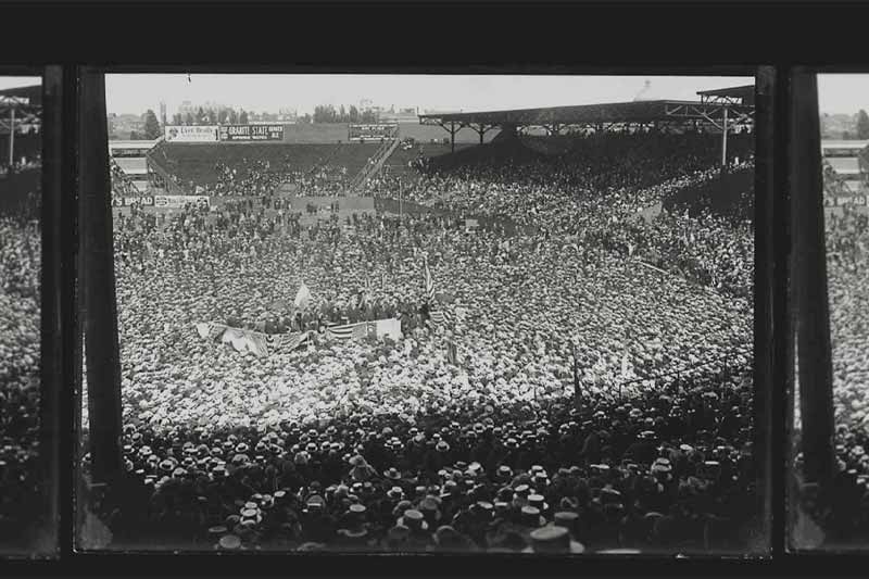
[[[103,505],[118,544],[744,549],[751,224],[639,215],[709,164],[693,141],[614,140],[577,146],[562,171],[489,160],[424,176],[406,199],[446,215],[125,214],[128,481]],[[469,227],[470,212],[522,227]],[[401,339],[327,330],[387,317]],[[256,357],[203,339],[203,322],[310,339]]]

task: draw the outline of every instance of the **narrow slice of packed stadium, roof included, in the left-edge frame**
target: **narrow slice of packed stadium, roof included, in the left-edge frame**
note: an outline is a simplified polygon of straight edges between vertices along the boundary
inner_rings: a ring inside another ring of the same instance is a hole
[[[39,85],[0,90],[0,552],[29,551],[46,523],[38,465],[41,101]]]

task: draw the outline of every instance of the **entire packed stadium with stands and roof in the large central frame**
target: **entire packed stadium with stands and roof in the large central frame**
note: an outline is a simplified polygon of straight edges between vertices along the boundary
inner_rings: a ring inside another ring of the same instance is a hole
[[[110,143],[86,546],[757,549],[753,129],[747,86]]]

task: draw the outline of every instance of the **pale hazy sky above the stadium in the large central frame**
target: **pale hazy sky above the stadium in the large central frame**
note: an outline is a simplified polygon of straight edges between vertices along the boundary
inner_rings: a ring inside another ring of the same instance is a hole
[[[108,75],[110,113],[167,114],[186,100],[240,106],[254,112],[295,109],[311,113],[316,104],[418,106],[465,111],[556,106],[631,101],[644,98],[696,100],[697,90],[754,84],[754,77],[702,76],[444,76],[444,75]]]

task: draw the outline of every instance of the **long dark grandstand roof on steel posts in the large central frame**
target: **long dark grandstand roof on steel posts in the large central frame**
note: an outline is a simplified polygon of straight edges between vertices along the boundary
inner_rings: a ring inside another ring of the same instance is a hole
[[[606,104],[579,104],[572,106],[551,106],[543,109],[516,109],[509,111],[484,111],[477,113],[444,113],[419,115],[423,124],[456,123],[463,125],[517,125],[545,126],[593,125],[608,123],[652,123],[695,119],[697,122],[718,117],[720,103],[697,101],[633,101]],[[754,106],[751,104],[728,104],[732,122],[753,121]]]

